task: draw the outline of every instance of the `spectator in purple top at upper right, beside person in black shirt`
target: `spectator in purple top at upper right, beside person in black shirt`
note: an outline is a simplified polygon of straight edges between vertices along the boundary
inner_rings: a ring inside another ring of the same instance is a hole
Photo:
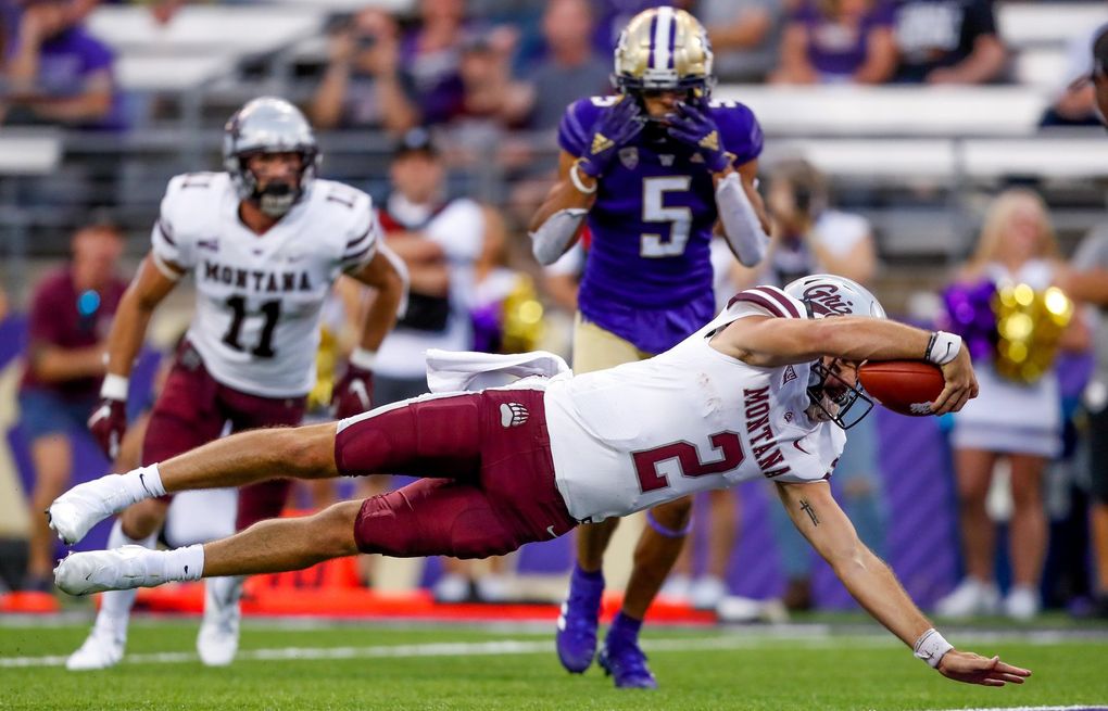
[[[782,84],[881,84],[896,70],[892,8],[885,0],[807,0],[789,18]]]

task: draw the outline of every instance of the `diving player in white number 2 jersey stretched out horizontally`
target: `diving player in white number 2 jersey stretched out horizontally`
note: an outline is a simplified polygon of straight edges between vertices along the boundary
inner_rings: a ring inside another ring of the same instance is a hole
[[[290,570],[359,550],[482,557],[585,521],[768,477],[847,589],[915,656],[958,681],[1022,683],[1028,670],[943,639],[831,496],[827,480],[844,427],[872,404],[855,385],[859,363],[937,363],[946,384],[932,403],[936,414],[960,410],[976,394],[958,337],[883,316],[869,291],[840,277],[806,277],[786,290],[757,287],[646,361],[424,395],[337,424],[247,432],[107,475],[51,506],[51,526],[63,540],[79,540],[132,501],[243,485],[274,471],[306,478],[404,471],[429,478],[309,518],[263,522],[204,546],[73,554],[59,564],[55,581],[86,594]]]

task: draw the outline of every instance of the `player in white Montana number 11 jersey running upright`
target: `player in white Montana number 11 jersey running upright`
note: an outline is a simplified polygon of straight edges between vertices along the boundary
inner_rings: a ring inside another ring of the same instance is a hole
[[[195,281],[196,312],[151,414],[143,462],[218,439],[225,426],[299,424],[316,377],[320,311],[341,274],[378,291],[336,389],[339,416],[369,409],[373,352],[403,300],[403,267],[378,245],[369,196],[317,179],[318,163],[302,114],[284,100],[263,97],[227,123],[225,172],[170,181],[152,249],[112,326],[102,403],[89,421],[110,457],[126,427],[127,377],[151,315],[186,274]],[[279,515],[288,487],[288,480],[273,480],[244,488],[237,529]],[[109,546],[153,546],[168,505],[155,498],[124,511]],[[234,658],[240,591],[242,578],[208,583],[197,639],[206,664]],[[120,661],[133,600],[125,591],[104,596],[92,632],[69,658],[70,669]]]

